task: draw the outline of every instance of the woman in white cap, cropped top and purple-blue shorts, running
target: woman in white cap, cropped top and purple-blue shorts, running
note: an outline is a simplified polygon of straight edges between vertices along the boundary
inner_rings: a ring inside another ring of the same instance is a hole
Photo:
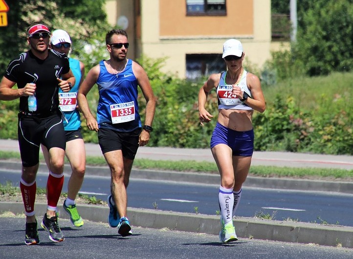
[[[221,210],[221,243],[238,240],[233,217],[238,207],[242,185],[249,172],[254,149],[252,114],[265,111],[260,80],[243,69],[243,45],[230,39],[223,44],[227,71],[212,74],[199,90],[201,125],[213,117],[206,109],[208,93],[216,88],[218,121],[211,138],[211,151],[221,175],[218,200]]]

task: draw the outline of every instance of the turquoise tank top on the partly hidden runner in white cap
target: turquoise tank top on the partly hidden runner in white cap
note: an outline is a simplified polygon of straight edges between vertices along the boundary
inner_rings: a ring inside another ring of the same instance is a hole
[[[75,76],[75,85],[71,88],[69,92],[64,93],[61,88],[59,88],[59,101],[60,109],[63,111],[66,120],[64,122],[64,129],[66,131],[78,130],[81,128],[80,113],[76,109],[77,105],[77,92],[81,81],[81,69],[80,61],[75,59],[69,59],[70,68]]]

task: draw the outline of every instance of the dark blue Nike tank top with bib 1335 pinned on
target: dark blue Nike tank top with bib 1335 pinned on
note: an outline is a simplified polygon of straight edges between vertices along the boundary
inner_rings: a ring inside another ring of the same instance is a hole
[[[140,128],[137,79],[132,71],[132,60],[128,60],[125,69],[118,74],[110,74],[104,61],[99,62],[100,73],[97,80],[98,127],[120,132],[131,132]]]

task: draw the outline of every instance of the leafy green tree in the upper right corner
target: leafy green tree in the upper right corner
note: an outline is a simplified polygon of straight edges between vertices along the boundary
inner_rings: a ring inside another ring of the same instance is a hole
[[[305,64],[309,76],[353,69],[352,2],[316,0],[301,12],[293,57]]]

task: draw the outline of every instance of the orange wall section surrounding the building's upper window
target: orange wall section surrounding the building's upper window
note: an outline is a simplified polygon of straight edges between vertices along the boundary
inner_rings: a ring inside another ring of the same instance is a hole
[[[186,16],[186,0],[159,2],[161,39],[253,35],[253,0],[228,0],[227,16]]]

